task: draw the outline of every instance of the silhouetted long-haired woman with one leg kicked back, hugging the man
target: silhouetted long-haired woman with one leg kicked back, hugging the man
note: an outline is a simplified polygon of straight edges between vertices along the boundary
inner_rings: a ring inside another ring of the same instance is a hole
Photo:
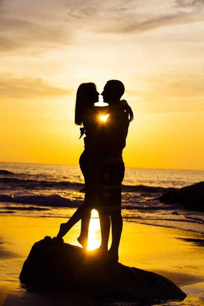
[[[94,83],[83,83],[77,91],[75,124],[84,126],[80,129],[81,136],[84,133],[86,134],[84,138],[85,149],[80,157],[80,168],[85,180],[85,199],[84,203],[75,211],[72,217],[66,223],[60,225],[60,231],[57,235],[57,238],[62,238],[75,223],[82,219],[81,234],[78,241],[84,248],[87,248],[88,244],[91,211],[92,209],[97,210],[97,207],[100,206],[102,192],[101,159],[103,156],[101,156],[101,148],[103,148],[106,140],[103,139],[105,122],[100,120],[99,117],[111,113],[115,107],[126,108],[130,117],[133,117],[132,110],[125,100],[122,100],[118,106],[94,106],[94,103],[98,102],[98,95],[99,93]],[[102,239],[101,249],[103,249],[103,243]],[[106,241],[105,245],[107,245]]]

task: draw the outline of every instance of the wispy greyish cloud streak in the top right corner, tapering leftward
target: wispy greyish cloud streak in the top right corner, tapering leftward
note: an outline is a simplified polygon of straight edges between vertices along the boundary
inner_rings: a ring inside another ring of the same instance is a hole
[[[158,7],[154,13],[140,12],[140,10],[127,10],[125,14],[118,13],[112,16],[111,23],[96,29],[97,32],[107,32],[115,34],[131,34],[151,31],[169,25],[179,25],[197,21],[203,21],[204,0],[194,0],[185,2],[177,0],[176,5],[169,9]],[[152,8],[155,9],[154,5]],[[168,13],[161,13],[161,11]]]

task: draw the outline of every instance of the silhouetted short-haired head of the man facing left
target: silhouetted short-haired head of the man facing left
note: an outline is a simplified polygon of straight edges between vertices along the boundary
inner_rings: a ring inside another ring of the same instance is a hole
[[[122,82],[118,80],[110,80],[106,83],[101,95],[103,95],[105,103],[111,104],[119,102],[123,93],[124,85]]]

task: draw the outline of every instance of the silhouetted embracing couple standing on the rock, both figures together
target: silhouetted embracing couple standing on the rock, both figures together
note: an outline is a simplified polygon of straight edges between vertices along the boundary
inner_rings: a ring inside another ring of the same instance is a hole
[[[101,229],[101,245],[97,252],[105,261],[118,261],[122,233],[122,150],[126,143],[129,121],[133,120],[132,109],[125,100],[120,100],[123,93],[122,82],[108,81],[101,93],[108,106],[98,107],[94,106],[99,96],[94,83],[83,83],[78,88],[75,124],[83,125],[80,129],[81,136],[84,133],[86,135],[85,149],[80,157],[80,168],[85,179],[85,199],[72,217],[60,225],[57,235],[57,238],[62,238],[75,223],[82,220],[78,241],[87,248],[91,211],[97,210]],[[99,119],[108,114],[106,122]],[[110,226],[112,244],[108,250]]]

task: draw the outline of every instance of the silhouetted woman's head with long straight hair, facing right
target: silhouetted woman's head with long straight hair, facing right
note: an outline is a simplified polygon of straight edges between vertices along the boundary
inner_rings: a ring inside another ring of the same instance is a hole
[[[76,125],[83,125],[82,119],[84,110],[95,103],[94,97],[96,93],[96,85],[94,83],[82,83],[77,90],[75,104],[75,119]]]

